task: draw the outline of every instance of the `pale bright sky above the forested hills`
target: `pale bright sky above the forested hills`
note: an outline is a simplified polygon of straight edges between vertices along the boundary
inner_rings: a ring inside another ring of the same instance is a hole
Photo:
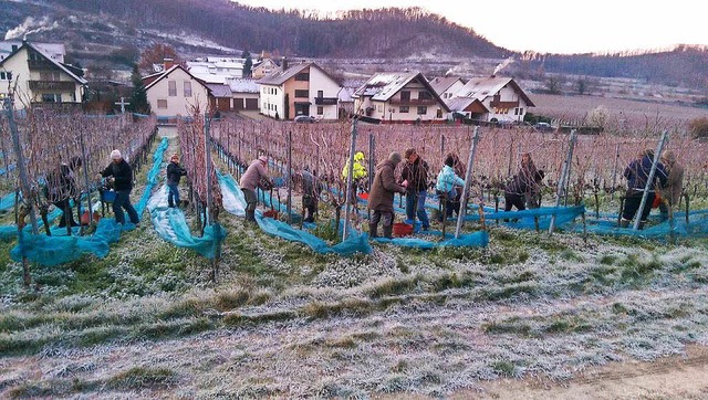
[[[237,0],[244,6],[337,10],[421,7],[512,51],[604,53],[708,45],[704,0]]]

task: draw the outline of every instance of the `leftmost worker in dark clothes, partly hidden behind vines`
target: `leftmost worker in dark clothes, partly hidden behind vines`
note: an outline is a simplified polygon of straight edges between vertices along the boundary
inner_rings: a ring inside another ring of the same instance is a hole
[[[74,220],[74,211],[71,207],[71,199],[79,200],[79,189],[76,187],[75,175],[81,168],[81,157],[72,157],[69,165],[61,164],[59,168],[46,175],[45,196],[49,201],[58,209],[62,210],[62,217],[59,220],[59,228],[79,227]]]

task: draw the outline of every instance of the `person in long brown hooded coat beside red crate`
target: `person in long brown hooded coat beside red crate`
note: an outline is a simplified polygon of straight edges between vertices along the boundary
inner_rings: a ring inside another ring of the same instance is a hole
[[[368,222],[371,238],[378,236],[378,222],[384,222],[384,236],[391,239],[394,229],[394,193],[405,193],[406,187],[396,183],[394,171],[400,162],[400,154],[392,152],[388,159],[376,166],[376,175],[368,192],[368,209],[373,211]]]

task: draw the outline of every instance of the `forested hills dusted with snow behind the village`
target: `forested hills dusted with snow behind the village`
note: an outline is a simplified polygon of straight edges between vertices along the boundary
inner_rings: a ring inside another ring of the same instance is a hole
[[[92,67],[136,62],[156,42],[184,55],[268,51],[295,57],[507,59],[509,73],[641,78],[708,90],[708,50],[645,54],[514,53],[418,8],[350,11],[335,20],[269,11],[228,0],[0,0],[0,33],[63,42],[70,61]],[[32,19],[29,21],[29,19]],[[29,21],[29,22],[28,22]],[[22,28],[22,29],[20,29]]]

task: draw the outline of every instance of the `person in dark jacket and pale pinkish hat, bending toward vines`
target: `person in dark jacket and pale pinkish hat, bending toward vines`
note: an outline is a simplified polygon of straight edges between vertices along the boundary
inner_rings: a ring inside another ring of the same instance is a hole
[[[115,200],[113,201],[113,213],[115,214],[115,222],[124,223],[125,214],[123,209],[128,213],[131,222],[139,227],[140,220],[137,215],[137,211],[131,204],[131,191],[133,190],[133,169],[126,160],[123,159],[121,151],[111,151],[111,159],[113,160],[110,166],[103,171],[98,172],[97,178],[111,178],[113,187],[115,189]]]

